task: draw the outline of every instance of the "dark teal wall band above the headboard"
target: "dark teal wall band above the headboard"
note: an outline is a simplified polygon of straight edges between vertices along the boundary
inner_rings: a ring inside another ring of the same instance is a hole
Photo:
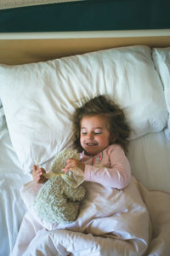
[[[0,10],[0,32],[170,28],[170,0],[89,0]]]

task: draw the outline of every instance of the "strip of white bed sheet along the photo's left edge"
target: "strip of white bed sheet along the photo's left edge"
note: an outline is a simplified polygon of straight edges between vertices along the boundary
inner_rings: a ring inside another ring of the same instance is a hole
[[[31,179],[20,169],[8,136],[8,128],[0,108],[0,256],[8,256],[14,247],[26,207],[19,189]]]

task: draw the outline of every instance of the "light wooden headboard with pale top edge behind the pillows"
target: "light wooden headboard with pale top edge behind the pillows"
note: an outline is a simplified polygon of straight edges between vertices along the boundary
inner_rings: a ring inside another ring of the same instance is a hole
[[[170,29],[0,33],[0,63],[14,65],[128,45],[170,46]]]

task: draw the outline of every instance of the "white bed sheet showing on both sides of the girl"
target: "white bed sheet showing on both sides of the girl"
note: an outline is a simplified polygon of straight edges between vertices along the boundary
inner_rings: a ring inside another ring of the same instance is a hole
[[[31,180],[20,168],[20,162],[14,153],[8,135],[8,128],[0,109],[0,255],[8,256],[26,212],[20,198],[20,187]],[[137,177],[148,189],[159,189],[170,193],[170,142],[164,132],[139,137],[130,142],[128,158],[133,176]]]

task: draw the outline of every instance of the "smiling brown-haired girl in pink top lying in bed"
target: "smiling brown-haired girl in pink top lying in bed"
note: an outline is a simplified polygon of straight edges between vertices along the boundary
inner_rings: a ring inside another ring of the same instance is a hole
[[[124,189],[130,183],[127,157],[129,127],[120,108],[105,96],[96,96],[77,108],[73,116],[74,148],[80,160],[69,159],[64,172],[79,167],[84,180],[114,189]],[[45,170],[33,166],[36,183],[46,182]]]

